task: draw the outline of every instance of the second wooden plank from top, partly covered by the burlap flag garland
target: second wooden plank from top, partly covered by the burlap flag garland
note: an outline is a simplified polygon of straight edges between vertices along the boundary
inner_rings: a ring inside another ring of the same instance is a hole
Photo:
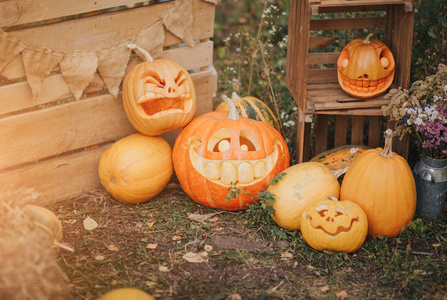
[[[143,28],[156,21],[172,2],[101,14],[10,32],[26,43],[53,50],[99,50],[132,40]],[[214,4],[202,0],[193,2],[193,37],[207,39],[214,34]],[[165,46],[182,41],[166,31]]]

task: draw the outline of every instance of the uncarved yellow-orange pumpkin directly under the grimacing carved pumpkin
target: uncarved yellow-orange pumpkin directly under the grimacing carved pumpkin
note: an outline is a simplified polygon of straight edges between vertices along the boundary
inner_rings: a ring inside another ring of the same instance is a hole
[[[174,172],[171,155],[171,147],[161,137],[129,135],[101,156],[98,169],[101,184],[119,201],[148,201],[169,183]]]

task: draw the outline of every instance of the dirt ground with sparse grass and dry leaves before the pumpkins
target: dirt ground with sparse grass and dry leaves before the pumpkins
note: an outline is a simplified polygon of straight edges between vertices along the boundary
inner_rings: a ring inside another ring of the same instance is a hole
[[[269,234],[247,212],[196,204],[175,179],[143,204],[98,190],[50,208],[62,220],[63,242],[75,249],[59,253],[72,299],[120,287],[157,299],[447,297],[446,241],[436,240],[447,236],[446,218],[428,224],[436,236],[421,237],[418,223],[400,238],[368,238],[345,254],[315,251],[299,232]],[[87,218],[98,226],[87,230]]]

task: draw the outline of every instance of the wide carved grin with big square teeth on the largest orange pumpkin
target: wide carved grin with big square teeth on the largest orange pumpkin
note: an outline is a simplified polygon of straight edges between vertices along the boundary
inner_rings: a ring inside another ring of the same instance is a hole
[[[260,181],[272,171],[278,160],[278,147],[266,158],[256,160],[207,159],[197,154],[193,146],[189,148],[189,155],[194,169],[208,180],[227,186],[236,181],[243,185]]]

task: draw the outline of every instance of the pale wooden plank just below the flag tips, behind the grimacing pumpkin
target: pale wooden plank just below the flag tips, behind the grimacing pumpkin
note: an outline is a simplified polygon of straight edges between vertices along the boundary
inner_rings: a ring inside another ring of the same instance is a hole
[[[213,70],[192,75],[197,112],[212,110]],[[0,170],[118,140],[135,132],[110,94],[0,119]]]

